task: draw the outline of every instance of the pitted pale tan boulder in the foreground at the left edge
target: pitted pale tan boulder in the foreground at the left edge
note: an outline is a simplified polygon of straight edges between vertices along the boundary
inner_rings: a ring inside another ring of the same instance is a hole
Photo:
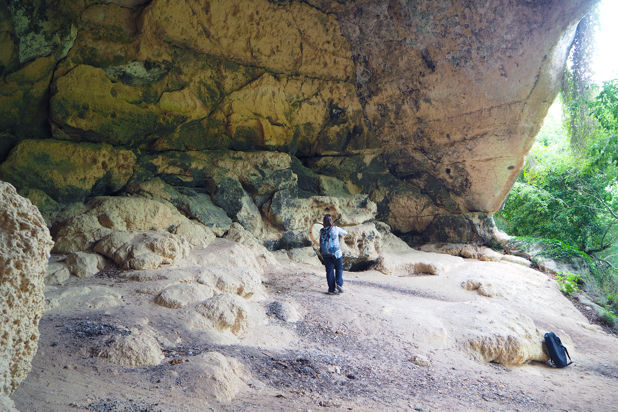
[[[43,279],[53,246],[38,209],[0,182],[0,409],[30,372],[44,312]]]

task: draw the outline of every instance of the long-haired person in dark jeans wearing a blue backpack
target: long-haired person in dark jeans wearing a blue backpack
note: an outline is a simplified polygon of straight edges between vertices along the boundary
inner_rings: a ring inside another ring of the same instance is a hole
[[[331,215],[324,215],[324,227],[320,229],[320,254],[324,260],[324,266],[326,266],[328,294],[344,292],[344,263],[341,260],[342,253],[339,248],[340,234],[348,233],[332,223]]]

